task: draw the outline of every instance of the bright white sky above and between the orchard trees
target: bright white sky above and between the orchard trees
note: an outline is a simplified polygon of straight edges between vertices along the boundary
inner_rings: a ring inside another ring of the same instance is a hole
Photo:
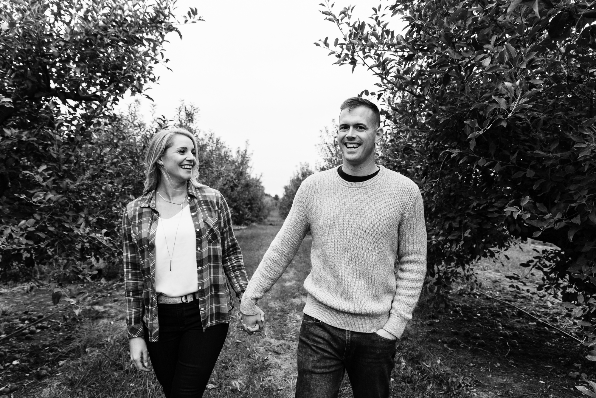
[[[359,0],[354,11],[369,17],[378,1]],[[283,195],[299,163],[315,165],[319,130],[337,119],[343,100],[376,82],[362,67],[333,65],[313,44],[340,36],[320,2],[179,1],[179,13],[197,7],[205,21],[182,26],[182,41],[167,37],[172,71],[157,69],[160,84],[147,91],[157,114],[171,119],[184,99],[200,109],[200,129],[232,148],[248,141],[253,172],[271,195]],[[337,11],[347,5],[336,1]],[[150,103],[141,101],[147,117]]]

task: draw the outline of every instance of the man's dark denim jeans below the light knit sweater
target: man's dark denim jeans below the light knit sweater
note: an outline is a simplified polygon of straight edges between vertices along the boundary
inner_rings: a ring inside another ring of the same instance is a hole
[[[296,398],[337,397],[344,371],[354,398],[389,397],[396,340],[339,329],[304,315],[298,342]]]

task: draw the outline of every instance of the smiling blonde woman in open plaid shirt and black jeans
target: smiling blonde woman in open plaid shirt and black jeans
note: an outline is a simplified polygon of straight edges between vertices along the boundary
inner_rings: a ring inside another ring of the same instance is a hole
[[[148,372],[151,358],[167,398],[203,396],[228,333],[226,277],[238,299],[248,284],[228,205],[198,182],[196,152],[185,129],[153,136],[144,194],[122,217],[131,359]]]

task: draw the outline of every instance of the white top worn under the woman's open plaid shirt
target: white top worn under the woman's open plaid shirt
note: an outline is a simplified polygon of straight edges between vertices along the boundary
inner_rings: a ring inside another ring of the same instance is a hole
[[[178,228],[177,235],[176,228]],[[176,245],[174,245],[174,240],[176,240]],[[197,291],[196,252],[197,243],[190,206],[185,206],[182,209],[182,215],[176,213],[169,219],[159,218],[155,238],[157,294],[178,297]],[[170,270],[170,254],[172,255],[172,270]]]

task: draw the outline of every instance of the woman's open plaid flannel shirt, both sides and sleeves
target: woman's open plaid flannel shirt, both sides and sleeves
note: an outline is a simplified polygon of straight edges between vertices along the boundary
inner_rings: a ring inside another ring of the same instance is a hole
[[[248,285],[242,253],[232,231],[232,219],[222,194],[207,186],[188,185],[187,200],[197,245],[197,300],[203,329],[229,323],[232,301],[226,276],[238,300]],[[156,191],[147,192],[126,206],[122,216],[122,247],[128,337],[144,335],[157,341],[155,239],[159,213]],[[200,289],[198,287],[201,287]]]

